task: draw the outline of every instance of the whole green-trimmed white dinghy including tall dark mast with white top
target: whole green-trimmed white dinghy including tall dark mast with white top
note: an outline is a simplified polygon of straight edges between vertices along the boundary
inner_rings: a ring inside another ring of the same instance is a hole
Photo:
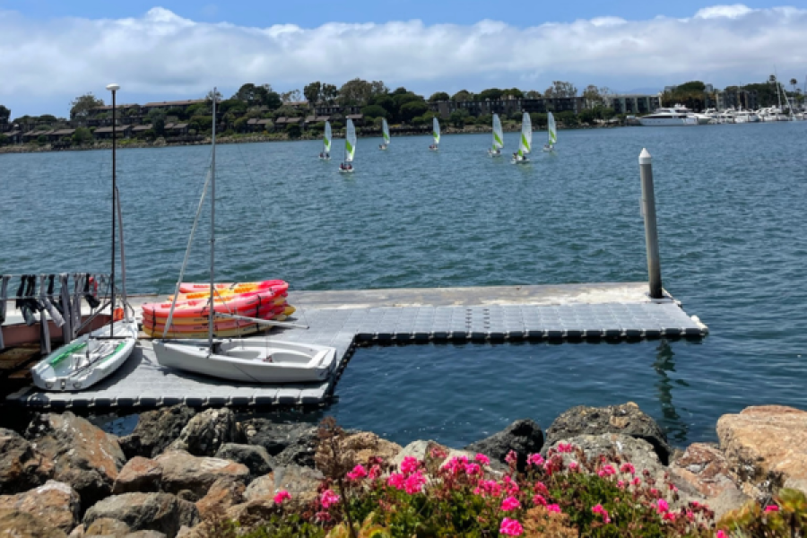
[[[109,84],[107,90],[112,91],[112,268],[109,279],[109,312],[110,323],[90,334],[82,334],[72,342],[48,354],[30,370],[35,386],[53,391],[77,391],[95,385],[120,368],[132,354],[137,343],[137,323],[132,316],[132,308],[126,301],[126,257],[123,245],[123,219],[120,211],[120,200],[117,193],[115,151],[115,93],[120,89],[117,84]],[[115,308],[115,247],[116,224],[120,239],[121,265],[121,309],[123,318],[116,321],[118,309]]]

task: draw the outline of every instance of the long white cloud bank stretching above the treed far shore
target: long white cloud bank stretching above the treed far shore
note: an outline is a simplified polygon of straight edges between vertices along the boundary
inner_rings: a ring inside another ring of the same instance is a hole
[[[130,95],[165,99],[201,96],[213,85],[290,89],[356,76],[421,91],[518,82],[543,89],[560,77],[622,89],[696,78],[751,82],[775,64],[783,76],[802,76],[805,27],[807,10],[744,5],[686,19],[599,17],[527,28],[490,20],[258,28],[195,22],[160,7],[119,20],[37,21],[0,11],[0,100],[66,102],[102,93],[110,81]]]

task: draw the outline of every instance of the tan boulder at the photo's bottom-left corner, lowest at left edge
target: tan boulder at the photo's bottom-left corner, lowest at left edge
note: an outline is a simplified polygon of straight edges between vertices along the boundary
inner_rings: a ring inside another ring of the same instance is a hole
[[[53,480],[25,493],[0,496],[0,509],[27,512],[65,534],[78,525],[80,508],[78,493],[64,482]]]

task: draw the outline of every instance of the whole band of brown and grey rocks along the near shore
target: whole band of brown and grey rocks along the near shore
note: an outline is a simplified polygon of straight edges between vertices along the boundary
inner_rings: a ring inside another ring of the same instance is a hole
[[[765,504],[783,487],[807,492],[807,412],[749,407],[721,417],[716,431],[719,445],[681,451],[636,404],[578,406],[545,432],[521,420],[464,450],[442,448],[448,456],[489,456],[502,469],[511,450],[524,468],[527,455],[546,456],[561,443],[586,455],[617,454],[666,476],[683,501],[706,503],[717,518],[751,500]],[[400,464],[439,447],[348,433],[343,453],[356,464],[369,456]],[[279,490],[297,502],[315,499],[323,479],[317,444],[317,427],[239,422],[227,408],[144,412],[120,438],[72,412],[42,413],[24,430],[0,429],[0,529],[19,538],[205,536],[214,516],[261,520]]]

